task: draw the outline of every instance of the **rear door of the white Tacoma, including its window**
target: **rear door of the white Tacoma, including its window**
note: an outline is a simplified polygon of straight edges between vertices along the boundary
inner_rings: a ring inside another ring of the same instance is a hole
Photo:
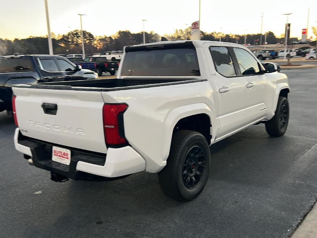
[[[237,77],[232,62],[230,47],[209,46],[205,48],[211,80],[216,88],[218,99],[219,139],[245,125],[246,87],[242,77]],[[211,56],[211,57],[210,57]]]

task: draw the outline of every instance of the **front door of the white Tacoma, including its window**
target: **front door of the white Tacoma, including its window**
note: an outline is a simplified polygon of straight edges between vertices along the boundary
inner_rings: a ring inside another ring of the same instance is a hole
[[[233,48],[237,59],[239,75],[247,90],[247,124],[269,115],[268,105],[273,103],[273,88],[269,74],[263,74],[260,63],[249,51]]]

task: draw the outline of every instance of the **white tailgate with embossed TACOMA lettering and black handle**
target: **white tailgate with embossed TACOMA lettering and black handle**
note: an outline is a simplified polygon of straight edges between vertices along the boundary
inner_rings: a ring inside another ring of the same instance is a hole
[[[17,122],[24,136],[107,153],[101,92],[14,87],[13,93]],[[52,109],[55,104],[57,110]]]

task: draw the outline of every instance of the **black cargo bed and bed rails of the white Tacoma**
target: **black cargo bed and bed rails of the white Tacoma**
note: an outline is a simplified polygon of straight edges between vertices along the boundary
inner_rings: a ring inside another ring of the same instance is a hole
[[[36,83],[36,84],[18,84],[16,88],[31,88],[31,89],[55,89],[55,90],[77,90],[77,91],[118,91],[128,89],[152,88],[160,86],[169,86],[175,84],[197,83],[207,81],[207,79],[192,79],[192,78],[127,78],[127,79],[94,79],[94,80],[77,80],[77,81],[62,81],[51,83]]]

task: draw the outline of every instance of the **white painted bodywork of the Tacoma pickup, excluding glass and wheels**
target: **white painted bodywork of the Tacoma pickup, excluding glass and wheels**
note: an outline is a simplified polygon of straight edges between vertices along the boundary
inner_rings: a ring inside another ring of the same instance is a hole
[[[164,42],[164,44],[173,43],[175,42]],[[145,44],[145,46],[158,44],[162,42]],[[117,77],[119,79],[183,78],[186,80],[191,78],[200,80],[194,83],[126,88],[128,90],[117,88],[101,92],[13,88],[17,96],[16,110],[21,133],[60,145],[107,153],[102,130],[102,106],[104,103],[126,103],[128,108],[124,113],[124,130],[132,150],[127,150],[129,155],[125,154],[127,158],[131,158],[131,160],[128,159],[130,163],[127,163],[130,169],[124,167],[123,170],[131,173],[131,171],[145,169],[156,173],[166,165],[173,129],[184,117],[206,114],[212,125],[210,127],[212,136],[210,144],[212,144],[256,122],[269,120],[274,116],[281,89],[289,89],[285,74],[275,72],[224,77],[217,72],[209,47],[230,46],[247,49],[234,43],[193,41],[193,44],[196,47],[200,76],[121,76],[122,65],[125,61],[123,57]],[[247,51],[258,62],[256,57],[249,50]],[[250,83],[252,86],[248,87]],[[219,89],[224,88],[230,90],[220,93]],[[57,103],[58,114],[56,116],[43,114],[42,102]],[[27,120],[40,124],[39,126],[32,123],[30,125]],[[43,123],[49,124],[50,128],[45,128]],[[76,133],[76,130],[72,130],[73,133],[57,131],[52,129],[52,125],[65,126],[68,130],[69,127],[79,128],[84,133]],[[111,151],[119,150],[110,149]],[[140,157],[135,156],[136,154]],[[145,162],[143,163],[142,160]],[[113,168],[116,168],[118,173],[112,171],[102,174],[100,172],[102,168],[87,165],[84,162],[78,162],[77,169],[103,176],[123,175],[119,168],[124,160],[114,159],[112,162]],[[89,166],[90,169],[88,169]],[[92,169],[93,167],[95,170]]]

